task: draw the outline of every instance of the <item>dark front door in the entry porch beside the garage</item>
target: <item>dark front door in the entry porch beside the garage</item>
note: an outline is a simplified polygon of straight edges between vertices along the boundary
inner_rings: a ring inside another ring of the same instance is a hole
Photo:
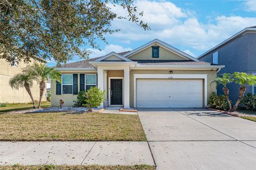
[[[111,105],[123,105],[123,80],[110,79]]]

